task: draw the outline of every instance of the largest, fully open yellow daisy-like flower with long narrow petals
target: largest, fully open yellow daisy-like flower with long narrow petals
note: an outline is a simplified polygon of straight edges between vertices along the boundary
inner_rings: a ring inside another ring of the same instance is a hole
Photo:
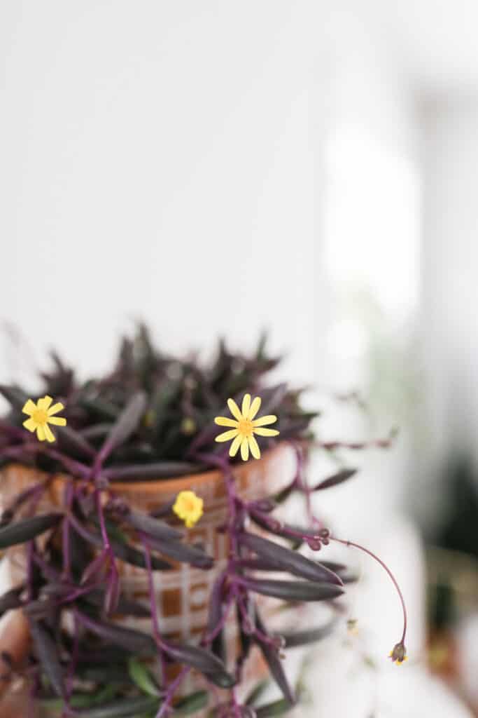
[[[244,394],[242,411],[239,411],[239,406],[237,406],[234,399],[228,399],[227,406],[229,406],[229,411],[231,411],[234,419],[228,419],[226,416],[216,416],[214,421],[219,426],[234,426],[234,429],[219,434],[216,437],[216,442],[229,442],[229,439],[234,439],[229,449],[229,456],[236,456],[239,447],[241,447],[243,461],[249,459],[249,449],[254,459],[260,459],[261,452],[254,434],[257,434],[258,437],[277,437],[279,432],[276,429],[262,428],[266,424],[274,424],[274,421],[277,421],[277,416],[269,414],[268,416],[260,416],[259,419],[254,419],[261,406],[260,396],[256,396],[251,404],[251,395]]]

